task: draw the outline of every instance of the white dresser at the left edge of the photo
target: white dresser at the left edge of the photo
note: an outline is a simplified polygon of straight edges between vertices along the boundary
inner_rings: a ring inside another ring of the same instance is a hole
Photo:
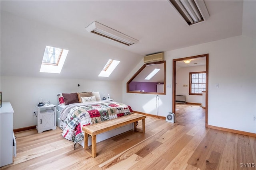
[[[1,167],[12,164],[13,156],[13,109],[10,102],[2,102],[2,107],[0,107],[1,112]],[[14,141],[13,141],[14,140]]]

